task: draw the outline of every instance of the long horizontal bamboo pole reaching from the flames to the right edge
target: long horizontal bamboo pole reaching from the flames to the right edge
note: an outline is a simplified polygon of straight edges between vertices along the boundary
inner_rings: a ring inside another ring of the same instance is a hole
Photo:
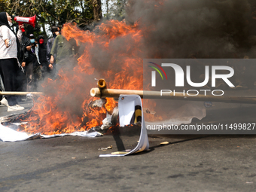
[[[183,93],[163,93],[160,91],[143,91],[143,90],[115,90],[93,88],[90,90],[90,96],[95,97],[113,97],[118,98],[120,95],[139,95],[142,99],[175,99],[184,101],[202,101],[202,102],[230,102],[230,103],[247,103],[256,104],[256,96],[184,96]]]

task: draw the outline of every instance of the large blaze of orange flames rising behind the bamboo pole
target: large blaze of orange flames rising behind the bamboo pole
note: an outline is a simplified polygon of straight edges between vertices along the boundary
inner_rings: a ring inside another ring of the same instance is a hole
[[[142,31],[138,23],[127,25],[109,20],[99,26],[98,33],[68,23],[62,35],[68,41],[75,39],[84,50],[72,69],[64,67],[58,79],[44,81],[45,94],[21,117],[29,122],[23,125],[27,133],[52,135],[100,126],[117,102],[106,99],[104,107],[90,107],[90,102],[95,100],[89,95],[90,88],[96,87],[95,78],[105,78],[109,88],[142,90]]]

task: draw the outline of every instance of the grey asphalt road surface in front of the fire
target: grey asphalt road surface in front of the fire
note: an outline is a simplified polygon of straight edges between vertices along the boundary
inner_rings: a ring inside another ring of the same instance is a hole
[[[27,110],[32,103],[21,105]],[[193,123],[256,123],[255,109],[215,103]],[[125,139],[127,145],[139,140]],[[111,135],[0,142],[0,191],[256,190],[256,136],[149,135],[149,142],[150,151],[127,157],[99,157],[117,151]]]

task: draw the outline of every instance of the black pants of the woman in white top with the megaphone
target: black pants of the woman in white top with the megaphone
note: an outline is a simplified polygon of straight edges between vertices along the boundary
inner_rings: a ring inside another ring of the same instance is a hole
[[[5,91],[17,91],[17,72],[19,66],[17,59],[0,59],[0,75],[5,86]],[[17,96],[5,96],[10,106],[17,105]]]

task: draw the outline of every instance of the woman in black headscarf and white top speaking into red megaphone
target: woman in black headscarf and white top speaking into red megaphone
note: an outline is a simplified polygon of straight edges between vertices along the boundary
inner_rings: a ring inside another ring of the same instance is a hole
[[[5,91],[17,90],[17,72],[19,70],[18,58],[20,57],[21,27],[17,35],[11,29],[11,16],[6,12],[0,13],[0,75]],[[17,96],[5,96],[2,103],[8,106],[8,111],[19,111],[24,108],[18,105]]]

